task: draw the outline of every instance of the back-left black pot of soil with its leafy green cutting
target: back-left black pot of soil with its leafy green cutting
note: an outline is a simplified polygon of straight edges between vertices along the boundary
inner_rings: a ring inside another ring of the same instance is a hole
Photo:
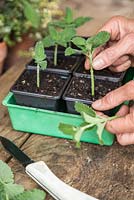
[[[46,71],[69,75],[80,64],[81,57],[64,56],[64,50],[68,42],[75,35],[76,31],[74,28],[57,31],[53,26],[49,27],[49,35],[42,40],[48,61]],[[26,67],[28,69],[35,69],[35,60],[31,60]]]

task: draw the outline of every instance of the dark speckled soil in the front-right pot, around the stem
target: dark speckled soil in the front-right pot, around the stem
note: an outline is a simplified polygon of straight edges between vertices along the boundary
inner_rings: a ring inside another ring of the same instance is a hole
[[[108,82],[105,80],[95,80],[95,96],[91,96],[91,82],[88,78],[73,77],[69,89],[67,90],[66,97],[75,99],[84,99],[87,101],[94,101],[108,92],[119,87],[118,83]]]

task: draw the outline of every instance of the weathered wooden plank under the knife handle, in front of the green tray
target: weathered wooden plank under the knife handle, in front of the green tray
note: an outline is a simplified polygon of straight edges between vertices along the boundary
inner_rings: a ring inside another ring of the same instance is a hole
[[[64,139],[32,135],[22,149],[34,160],[43,160],[69,185],[103,200],[134,199],[134,146],[102,147],[74,143]],[[18,162],[10,166],[17,183],[25,188],[38,187]],[[48,195],[47,200],[52,198]]]

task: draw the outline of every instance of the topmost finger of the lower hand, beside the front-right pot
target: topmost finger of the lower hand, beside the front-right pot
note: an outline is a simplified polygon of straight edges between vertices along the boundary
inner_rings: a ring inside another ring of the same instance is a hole
[[[129,81],[127,84],[109,92],[102,99],[95,101],[92,107],[95,110],[109,110],[114,108],[126,100],[134,99],[134,80]]]

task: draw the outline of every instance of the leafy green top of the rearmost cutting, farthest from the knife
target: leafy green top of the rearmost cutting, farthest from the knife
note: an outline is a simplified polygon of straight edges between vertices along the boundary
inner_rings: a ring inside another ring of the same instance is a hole
[[[76,19],[73,18],[73,11],[70,8],[66,8],[66,13],[63,19],[56,20],[49,25],[53,25],[62,29],[65,28],[78,28],[82,26],[86,22],[90,21],[91,17],[78,17]]]

